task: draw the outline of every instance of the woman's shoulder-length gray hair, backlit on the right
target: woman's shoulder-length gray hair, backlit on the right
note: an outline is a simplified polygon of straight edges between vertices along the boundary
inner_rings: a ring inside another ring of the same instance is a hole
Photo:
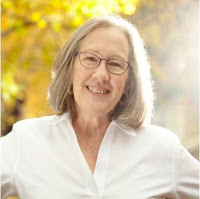
[[[60,50],[53,63],[52,82],[48,91],[51,107],[59,114],[69,111],[72,118],[76,117],[74,97],[69,95],[72,89],[75,55],[79,51],[84,37],[99,27],[118,28],[125,34],[129,43],[131,67],[129,67],[126,84],[126,103],[123,106],[120,103],[116,105],[111,119],[133,128],[150,123],[154,93],[148,55],[137,28],[117,15],[89,19],[80,26]]]

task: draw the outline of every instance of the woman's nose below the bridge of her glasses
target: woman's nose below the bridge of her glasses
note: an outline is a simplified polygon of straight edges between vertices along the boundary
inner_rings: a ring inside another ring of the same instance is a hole
[[[99,84],[104,84],[110,79],[105,60],[101,60],[93,75]]]

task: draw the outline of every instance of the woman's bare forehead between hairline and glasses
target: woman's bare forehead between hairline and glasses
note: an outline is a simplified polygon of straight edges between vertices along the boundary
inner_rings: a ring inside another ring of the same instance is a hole
[[[128,59],[129,44],[125,33],[117,27],[99,27],[82,41],[82,51],[97,52],[101,56],[120,56]]]

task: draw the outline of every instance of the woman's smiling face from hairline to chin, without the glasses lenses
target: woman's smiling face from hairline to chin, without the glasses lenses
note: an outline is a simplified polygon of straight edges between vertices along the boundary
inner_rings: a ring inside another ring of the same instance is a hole
[[[79,52],[95,54],[102,59],[128,61],[129,45],[125,34],[115,27],[97,28],[82,41]],[[125,89],[128,70],[121,75],[109,72],[106,62],[97,68],[86,68],[76,56],[73,68],[73,94],[78,115],[109,118]],[[105,118],[105,119],[106,119]]]

